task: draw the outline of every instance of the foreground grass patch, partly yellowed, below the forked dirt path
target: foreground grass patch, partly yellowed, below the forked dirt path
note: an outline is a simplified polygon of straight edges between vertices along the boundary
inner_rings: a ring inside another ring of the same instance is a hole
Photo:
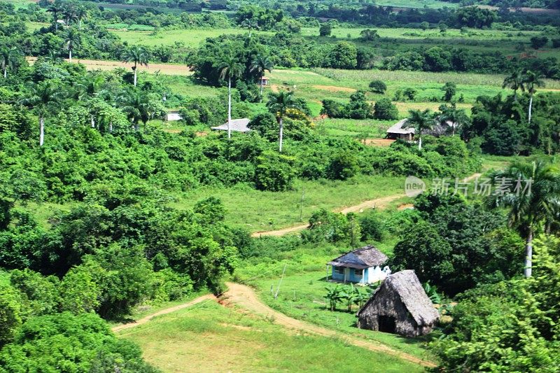
[[[155,318],[118,336],[163,372],[422,372],[404,360],[280,325],[213,301]]]

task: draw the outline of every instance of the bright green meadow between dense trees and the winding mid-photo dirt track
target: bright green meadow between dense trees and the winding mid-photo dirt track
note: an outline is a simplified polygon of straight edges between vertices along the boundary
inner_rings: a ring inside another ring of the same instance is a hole
[[[338,209],[368,199],[402,193],[404,178],[388,176],[356,176],[350,181],[297,181],[287,192],[262,192],[248,186],[234,188],[200,188],[187,193],[172,206],[190,209],[197,201],[210,196],[220,197],[226,223],[244,227],[251,232],[288,227],[309,220],[318,209]],[[302,219],[300,201],[305,192]]]

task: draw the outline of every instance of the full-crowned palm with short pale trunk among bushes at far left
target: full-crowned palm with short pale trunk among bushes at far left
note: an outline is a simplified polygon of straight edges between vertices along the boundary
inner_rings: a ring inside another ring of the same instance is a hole
[[[44,80],[31,86],[31,94],[22,104],[34,108],[39,118],[39,146],[45,142],[45,115],[55,108],[62,99],[59,86],[52,80]]]

